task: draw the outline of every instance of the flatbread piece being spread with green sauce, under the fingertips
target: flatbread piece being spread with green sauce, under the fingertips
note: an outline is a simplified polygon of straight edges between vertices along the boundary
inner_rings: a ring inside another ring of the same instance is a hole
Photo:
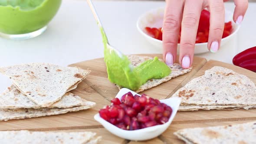
[[[135,67],[140,65],[142,62],[149,60],[149,59],[154,59],[152,57],[149,56],[135,56],[135,55],[130,55],[128,56],[128,59],[131,61],[131,64],[134,65]],[[161,59],[159,59],[161,60]],[[161,60],[163,61],[163,60]],[[146,89],[149,88],[153,88],[155,86],[160,85],[161,83],[167,82],[170,79],[177,77],[179,75],[184,75],[187,72],[190,72],[192,67],[190,69],[183,69],[181,68],[181,65],[174,63],[173,65],[170,66],[171,69],[171,74],[164,77],[163,79],[150,79],[148,80],[148,82],[146,82],[144,85],[141,85],[141,87],[135,91],[135,92],[142,92]],[[121,87],[119,85],[117,85],[119,89],[121,89]]]

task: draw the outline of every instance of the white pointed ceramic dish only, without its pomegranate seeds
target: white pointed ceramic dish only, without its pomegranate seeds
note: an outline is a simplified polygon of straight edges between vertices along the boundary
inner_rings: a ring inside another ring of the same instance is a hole
[[[139,95],[127,88],[122,88],[118,94],[116,95],[116,98],[119,98],[121,100],[121,97],[125,95],[126,93],[131,92],[133,95]],[[139,95],[141,96],[141,95]],[[99,116],[99,114],[96,114],[94,116],[94,119],[101,123],[104,128],[106,128],[108,131],[110,131],[112,134],[115,134],[118,137],[122,137],[124,139],[132,140],[132,141],[145,141],[152,139],[154,137],[158,137],[160,134],[162,134],[171,124],[172,120],[174,119],[174,116],[177,113],[177,110],[180,106],[181,99],[180,98],[168,98],[168,99],[162,99],[160,100],[162,103],[165,103],[166,105],[169,105],[172,108],[172,114],[165,124],[156,125],[149,128],[143,128],[139,130],[134,131],[126,131],[121,128],[116,127],[115,125],[109,123],[108,121],[105,121],[103,118]]]

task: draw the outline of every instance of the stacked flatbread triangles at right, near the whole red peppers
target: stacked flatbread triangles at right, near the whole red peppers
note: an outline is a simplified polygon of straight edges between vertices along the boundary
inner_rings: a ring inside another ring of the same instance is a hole
[[[179,111],[256,107],[256,86],[245,75],[220,66],[192,79],[172,97],[181,98]]]

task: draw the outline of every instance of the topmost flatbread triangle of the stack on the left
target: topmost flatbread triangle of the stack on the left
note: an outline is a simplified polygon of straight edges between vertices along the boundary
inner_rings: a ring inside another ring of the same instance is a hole
[[[0,68],[13,84],[31,101],[49,107],[90,73],[77,67],[62,67],[48,63],[29,63]]]

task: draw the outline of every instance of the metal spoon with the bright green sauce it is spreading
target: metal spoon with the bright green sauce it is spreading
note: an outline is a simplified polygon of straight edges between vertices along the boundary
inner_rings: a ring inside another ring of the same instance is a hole
[[[159,61],[158,57],[147,60],[136,68],[131,65],[127,56],[108,43],[107,36],[92,1],[87,0],[87,3],[101,30],[104,44],[104,62],[107,67],[108,80],[110,82],[122,88],[129,88],[135,91],[149,79],[161,79],[171,73],[170,67],[164,62]]]

